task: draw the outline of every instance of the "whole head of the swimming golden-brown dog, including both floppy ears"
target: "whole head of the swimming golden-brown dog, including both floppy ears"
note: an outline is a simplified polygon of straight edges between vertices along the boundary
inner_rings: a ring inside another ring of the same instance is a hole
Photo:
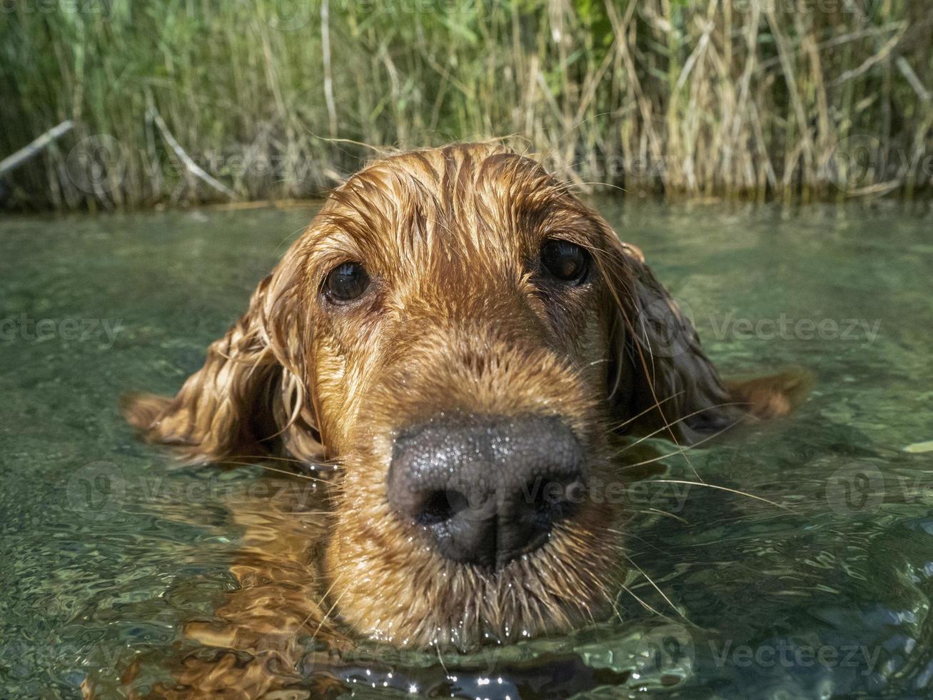
[[[361,634],[471,646],[606,609],[620,432],[689,441],[738,409],[641,253],[489,145],[351,177],[170,402],[132,422],[192,460],[336,465],[328,598]]]

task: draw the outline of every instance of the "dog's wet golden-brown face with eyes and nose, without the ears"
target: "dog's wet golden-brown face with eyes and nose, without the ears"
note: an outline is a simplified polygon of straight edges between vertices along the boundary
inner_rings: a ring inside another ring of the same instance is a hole
[[[352,178],[307,247],[318,427],[341,467],[331,599],[363,633],[457,646],[606,604],[605,228],[480,149]],[[387,234],[386,234],[387,233]]]

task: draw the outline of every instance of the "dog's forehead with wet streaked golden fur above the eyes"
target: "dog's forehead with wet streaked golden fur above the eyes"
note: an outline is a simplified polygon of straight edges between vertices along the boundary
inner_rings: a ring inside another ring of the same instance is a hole
[[[309,231],[313,252],[370,264],[520,259],[549,231],[580,239],[594,228],[588,210],[536,161],[489,145],[376,161],[335,190],[318,219]]]

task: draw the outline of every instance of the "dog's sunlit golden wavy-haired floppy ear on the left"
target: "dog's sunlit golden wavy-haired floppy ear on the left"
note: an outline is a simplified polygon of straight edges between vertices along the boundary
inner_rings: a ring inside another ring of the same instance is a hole
[[[301,348],[301,256],[294,245],[263,279],[248,311],[207,348],[204,366],[174,397],[131,395],[123,413],[147,441],[172,445],[186,462],[286,453],[314,462],[322,449]]]

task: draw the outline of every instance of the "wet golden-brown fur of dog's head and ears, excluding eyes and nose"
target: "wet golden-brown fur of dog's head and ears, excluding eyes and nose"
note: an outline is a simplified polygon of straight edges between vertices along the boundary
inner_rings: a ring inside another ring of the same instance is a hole
[[[591,252],[590,284],[540,282],[547,236]],[[328,309],[319,289],[346,260],[364,262],[374,293]],[[273,455],[333,466],[322,607],[357,635],[466,649],[606,615],[620,507],[591,499],[498,572],[454,565],[388,509],[400,430],[450,413],[559,415],[606,482],[620,478],[624,435],[687,444],[787,413],[800,385],[720,381],[634,245],[535,161],[480,144],[399,154],[354,175],[174,399],[134,396],[124,408],[147,440],[191,463]]]

